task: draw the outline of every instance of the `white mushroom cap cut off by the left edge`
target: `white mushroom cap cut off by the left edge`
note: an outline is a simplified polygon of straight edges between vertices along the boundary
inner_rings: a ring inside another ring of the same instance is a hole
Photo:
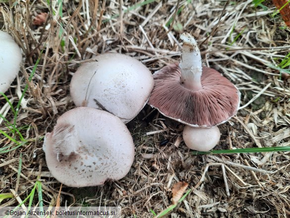
[[[22,60],[21,50],[12,37],[0,31],[0,92],[5,92],[16,77]]]

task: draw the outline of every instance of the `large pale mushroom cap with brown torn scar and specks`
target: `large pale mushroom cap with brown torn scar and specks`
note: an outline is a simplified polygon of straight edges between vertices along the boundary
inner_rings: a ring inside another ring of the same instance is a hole
[[[48,168],[71,187],[102,185],[123,178],[134,159],[132,137],[115,115],[78,107],[58,118],[43,149]]]

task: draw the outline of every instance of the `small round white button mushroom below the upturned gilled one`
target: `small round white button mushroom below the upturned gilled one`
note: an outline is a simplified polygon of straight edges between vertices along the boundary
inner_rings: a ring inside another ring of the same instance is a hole
[[[218,144],[221,134],[217,126],[211,128],[185,126],[182,137],[190,149],[208,151]]]

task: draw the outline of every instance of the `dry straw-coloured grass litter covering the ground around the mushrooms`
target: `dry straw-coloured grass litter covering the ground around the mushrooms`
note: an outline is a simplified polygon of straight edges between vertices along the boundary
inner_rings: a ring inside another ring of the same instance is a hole
[[[203,63],[219,70],[241,91],[241,109],[235,119],[220,126],[222,137],[215,149],[289,146],[290,81],[275,67],[289,53],[290,29],[281,28],[285,24],[279,15],[271,17],[274,5],[268,3],[264,11],[253,7],[252,0],[181,0],[182,10],[175,13],[177,0],[147,0],[142,5],[133,1],[136,7],[128,0],[66,0],[62,10],[56,0],[51,5],[44,0],[17,2],[11,7],[0,3],[0,29],[13,36],[25,57],[21,73],[6,93],[14,107],[27,84],[25,74],[36,70],[16,119],[28,142],[0,154],[1,193],[17,196],[1,206],[18,205],[41,181],[44,205],[56,205],[58,199],[60,205],[121,206],[124,217],[146,218],[152,217],[150,209],[159,213],[168,207],[173,184],[186,181],[193,191],[172,217],[290,216],[289,152],[192,156],[180,138],[183,126],[149,106],[128,124],[136,157],[128,175],[119,181],[82,189],[63,186],[58,198],[60,184],[50,175],[42,150],[45,133],[58,116],[74,108],[69,81],[79,64],[110,51],[132,56],[154,72],[179,61],[178,38],[183,31],[200,43]],[[47,20],[33,25],[41,12],[48,12]],[[173,17],[172,28],[166,26]],[[2,96],[0,113],[13,123]],[[5,121],[0,125],[12,136]],[[0,135],[0,147],[11,143]],[[37,196],[34,199],[36,204]]]

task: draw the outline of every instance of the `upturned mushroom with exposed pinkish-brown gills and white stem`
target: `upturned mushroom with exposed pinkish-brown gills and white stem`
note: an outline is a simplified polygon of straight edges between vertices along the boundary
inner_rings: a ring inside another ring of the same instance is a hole
[[[237,112],[239,91],[221,73],[202,67],[198,45],[190,34],[183,33],[180,39],[181,62],[153,74],[155,84],[148,103],[163,115],[190,127],[225,123]],[[204,140],[207,141],[205,137]]]

